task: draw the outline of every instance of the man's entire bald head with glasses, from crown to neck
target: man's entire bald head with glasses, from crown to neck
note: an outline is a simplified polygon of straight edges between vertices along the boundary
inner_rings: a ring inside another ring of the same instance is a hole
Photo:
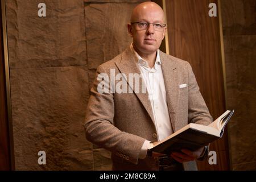
[[[151,63],[155,60],[166,29],[163,9],[154,2],[137,5],[131,14],[131,22],[127,24],[127,30],[133,38],[133,48],[146,60],[150,56]]]

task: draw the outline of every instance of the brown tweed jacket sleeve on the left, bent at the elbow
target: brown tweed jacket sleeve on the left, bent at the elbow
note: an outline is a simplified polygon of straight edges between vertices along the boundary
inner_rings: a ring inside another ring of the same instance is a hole
[[[137,164],[145,139],[123,132],[114,126],[114,94],[110,92],[109,78],[110,74],[106,73],[102,66],[97,68],[85,114],[86,139],[113,152],[123,160]],[[105,86],[104,92],[98,89],[99,85],[103,88],[102,83]]]

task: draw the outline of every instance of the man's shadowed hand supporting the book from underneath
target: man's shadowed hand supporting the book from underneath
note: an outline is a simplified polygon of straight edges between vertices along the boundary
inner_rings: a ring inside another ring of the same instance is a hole
[[[181,149],[181,152],[172,152],[171,157],[177,160],[179,163],[184,163],[200,158],[200,155],[203,153],[203,151],[204,147],[201,147],[196,151]]]

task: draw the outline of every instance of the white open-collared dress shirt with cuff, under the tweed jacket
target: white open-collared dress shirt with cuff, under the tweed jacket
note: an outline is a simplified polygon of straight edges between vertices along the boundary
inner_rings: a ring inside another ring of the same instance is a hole
[[[137,58],[137,65],[140,69],[144,83],[146,84],[148,99],[150,100],[152,111],[154,114],[154,122],[156,131],[158,134],[158,140],[162,140],[173,133],[171,127],[171,120],[167,106],[166,88],[164,85],[164,78],[162,72],[162,63],[159,56],[159,50],[157,51],[154,67],[150,68],[146,60],[143,60],[141,56],[133,48],[133,44],[130,46]],[[146,158],[147,149],[150,141],[145,140],[142,146],[140,159]]]

